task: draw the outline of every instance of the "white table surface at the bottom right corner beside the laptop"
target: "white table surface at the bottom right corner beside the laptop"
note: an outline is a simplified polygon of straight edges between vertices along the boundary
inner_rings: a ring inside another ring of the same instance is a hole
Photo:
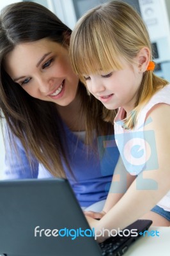
[[[170,255],[170,227],[150,227],[149,232],[154,230],[155,236],[140,237],[138,241],[128,248],[124,256],[143,256],[143,255],[154,255],[154,256],[168,256]],[[150,233],[151,234],[151,233]]]

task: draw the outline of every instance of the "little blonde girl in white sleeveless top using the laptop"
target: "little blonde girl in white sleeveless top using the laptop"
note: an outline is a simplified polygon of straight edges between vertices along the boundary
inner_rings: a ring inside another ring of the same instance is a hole
[[[125,228],[143,216],[170,225],[170,86],[153,74],[151,43],[141,17],[111,1],[77,22],[70,42],[73,69],[105,108],[119,108],[115,140],[125,173],[114,173],[98,229]],[[112,110],[111,110],[112,112]],[[105,112],[104,112],[105,115]],[[107,115],[107,121],[113,122]],[[121,189],[127,179],[127,189]],[[114,185],[118,184],[117,191]],[[159,215],[158,215],[159,214]],[[90,214],[98,218],[98,214]],[[101,237],[99,239],[101,241]]]

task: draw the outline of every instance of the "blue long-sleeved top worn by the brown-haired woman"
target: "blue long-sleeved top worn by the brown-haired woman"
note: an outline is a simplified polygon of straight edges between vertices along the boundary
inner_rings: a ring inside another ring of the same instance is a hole
[[[107,197],[111,185],[112,174],[118,161],[118,148],[114,145],[105,147],[105,141],[112,140],[112,136],[100,136],[95,138],[93,145],[98,145],[94,150],[85,145],[77,136],[64,126],[68,147],[68,161],[75,179],[63,163],[66,177],[73,191],[83,207],[104,200]],[[17,154],[6,140],[6,157],[4,179],[44,179],[52,177],[45,167],[31,156],[32,166],[26,157],[26,152],[16,138]],[[97,144],[98,143],[98,144]]]

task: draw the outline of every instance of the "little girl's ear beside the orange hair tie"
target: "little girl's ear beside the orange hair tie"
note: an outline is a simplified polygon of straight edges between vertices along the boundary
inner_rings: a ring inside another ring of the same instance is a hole
[[[137,54],[137,63],[139,72],[145,72],[150,63],[150,49],[143,47]]]

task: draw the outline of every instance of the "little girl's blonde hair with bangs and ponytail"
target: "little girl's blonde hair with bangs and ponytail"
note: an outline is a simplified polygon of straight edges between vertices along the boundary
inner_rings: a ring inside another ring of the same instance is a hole
[[[86,85],[83,74],[120,70],[122,58],[132,64],[143,47],[150,49],[152,59],[150,37],[139,14],[126,3],[111,1],[93,8],[77,22],[70,40],[70,59],[73,70]],[[139,110],[166,84],[152,71],[144,72],[134,110],[125,127],[134,127]],[[104,118],[109,122],[112,122],[111,112],[104,109]]]

